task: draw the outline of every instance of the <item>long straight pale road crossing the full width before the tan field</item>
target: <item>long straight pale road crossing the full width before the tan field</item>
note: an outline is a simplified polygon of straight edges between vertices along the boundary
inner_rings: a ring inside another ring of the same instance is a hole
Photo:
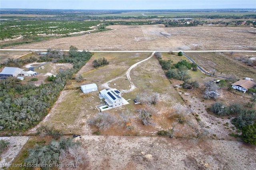
[[[46,49],[0,49],[0,51],[47,51]],[[69,51],[69,50],[60,50],[60,51]],[[78,50],[78,51],[83,51],[83,50]],[[101,52],[101,53],[105,53],[105,52],[110,52],[110,53],[142,53],[142,52],[150,52],[153,53],[154,51],[159,51],[159,52],[170,52],[172,50],[139,50],[139,51],[91,51],[90,52],[94,53],[94,52]],[[184,51],[184,50],[177,50],[177,51],[172,51],[174,53],[178,53],[178,52],[184,52],[184,53],[200,53],[200,52],[252,52],[252,53],[256,53],[256,51],[250,51],[250,50],[201,50],[201,51]]]

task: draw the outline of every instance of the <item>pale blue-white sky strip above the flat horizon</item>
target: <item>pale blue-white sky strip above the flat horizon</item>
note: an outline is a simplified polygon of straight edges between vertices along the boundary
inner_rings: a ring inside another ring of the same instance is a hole
[[[0,0],[0,8],[81,10],[256,8],[256,0]]]

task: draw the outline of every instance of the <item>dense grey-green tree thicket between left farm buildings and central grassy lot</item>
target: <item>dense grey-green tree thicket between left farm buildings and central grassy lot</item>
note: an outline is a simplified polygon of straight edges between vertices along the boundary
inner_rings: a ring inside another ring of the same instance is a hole
[[[87,51],[69,51],[58,58],[58,62],[72,63],[73,68],[51,77],[51,81],[40,86],[22,84],[17,78],[0,80],[0,129],[25,131],[38,124],[56,102],[67,80],[84,66],[92,54]]]

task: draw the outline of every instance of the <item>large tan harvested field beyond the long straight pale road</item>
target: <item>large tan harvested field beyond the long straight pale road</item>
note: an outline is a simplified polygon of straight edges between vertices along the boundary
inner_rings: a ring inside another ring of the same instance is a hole
[[[111,25],[112,30],[65,37],[15,49],[79,50],[255,50],[256,29],[251,27],[164,27],[164,25]]]

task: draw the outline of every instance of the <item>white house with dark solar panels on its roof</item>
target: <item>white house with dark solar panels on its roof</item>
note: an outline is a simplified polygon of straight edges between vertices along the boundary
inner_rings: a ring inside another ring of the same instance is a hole
[[[108,104],[108,106],[113,108],[129,104],[124,98],[122,98],[121,92],[116,88],[101,90],[100,96],[105,99],[105,102]]]

